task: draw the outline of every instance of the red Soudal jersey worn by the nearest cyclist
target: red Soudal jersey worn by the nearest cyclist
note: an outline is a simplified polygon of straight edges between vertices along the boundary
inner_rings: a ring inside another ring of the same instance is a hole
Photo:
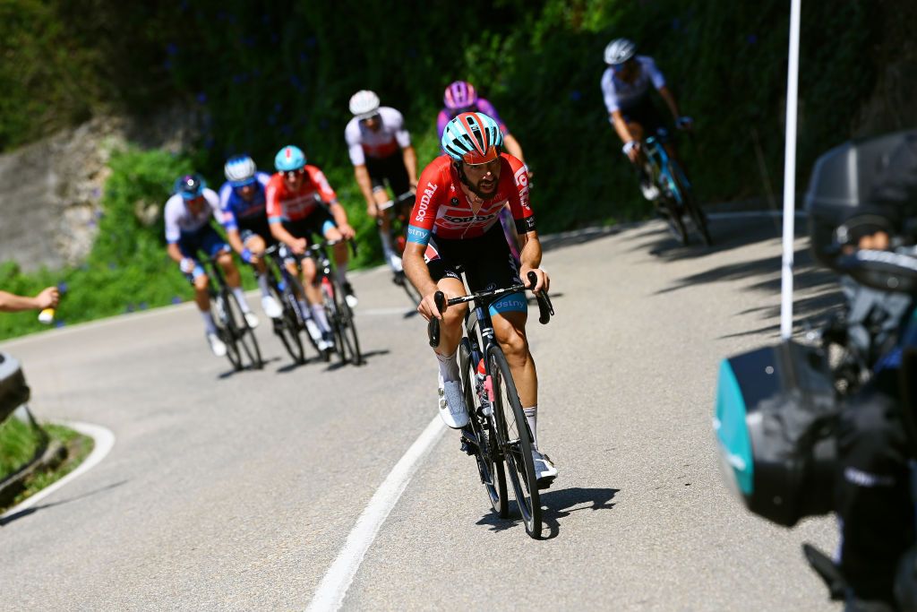
[[[528,169],[509,153],[501,153],[501,158],[497,193],[484,200],[477,212],[459,186],[460,179],[452,159],[440,155],[432,161],[417,184],[408,241],[426,244],[430,233],[442,239],[483,236],[499,222],[500,209],[507,203],[519,233],[534,230],[535,217],[528,201]]]

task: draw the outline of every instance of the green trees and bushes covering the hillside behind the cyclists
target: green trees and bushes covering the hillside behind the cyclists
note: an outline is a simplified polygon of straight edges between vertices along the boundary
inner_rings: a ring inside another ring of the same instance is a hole
[[[878,25],[906,2],[804,3],[799,184],[814,158],[849,138],[880,70]],[[248,151],[271,169],[283,144],[320,166],[362,237],[357,265],[380,261],[343,139],[348,98],[376,90],[403,111],[423,165],[438,152],[445,85],[469,79],[492,100],[536,172],[542,231],[646,216],[608,125],[602,50],[618,36],[656,58],[697,137],[681,147],[698,193],[724,201],[782,183],[789,3],[762,0],[465,0],[462,3],[269,3],[184,0],[0,0],[0,149],[107,109],[142,112],[184,100],[201,119],[186,157],[128,151],[112,161],[100,238],[86,264],[28,277],[6,264],[0,286],[64,280],[68,322],[189,295],[143,227],[137,202],[162,203],[193,166],[213,183]],[[871,51],[872,50],[872,51]],[[661,103],[659,105],[661,107]],[[8,318],[8,320],[7,320]],[[39,328],[0,319],[0,338]]]

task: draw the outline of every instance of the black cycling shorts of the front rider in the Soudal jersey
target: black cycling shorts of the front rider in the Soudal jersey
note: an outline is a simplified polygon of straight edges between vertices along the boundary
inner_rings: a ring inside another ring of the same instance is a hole
[[[519,268],[499,223],[478,238],[450,240],[433,234],[426,256],[426,267],[434,282],[445,277],[461,280],[463,271],[471,292],[490,291],[521,282]]]

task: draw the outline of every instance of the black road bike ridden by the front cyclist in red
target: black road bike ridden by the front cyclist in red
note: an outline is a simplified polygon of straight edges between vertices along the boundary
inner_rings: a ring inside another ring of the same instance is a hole
[[[462,391],[469,410],[469,424],[461,429],[462,450],[475,458],[493,511],[501,518],[509,516],[506,495],[506,473],[509,473],[525,532],[537,540],[541,537],[542,521],[532,457],[532,431],[525,420],[509,363],[494,339],[489,312],[489,306],[497,299],[535,286],[536,274],[529,273],[528,281],[531,285],[514,284],[504,289],[463,295],[448,302],[445,295],[437,291],[435,298],[440,312],[445,306],[474,303],[465,317],[465,337],[458,345]],[[547,324],[554,314],[551,300],[545,291],[538,292],[536,298],[540,311],[538,320]],[[438,319],[430,319],[427,334],[430,346],[436,348],[439,345]],[[505,472],[503,463],[507,468]]]

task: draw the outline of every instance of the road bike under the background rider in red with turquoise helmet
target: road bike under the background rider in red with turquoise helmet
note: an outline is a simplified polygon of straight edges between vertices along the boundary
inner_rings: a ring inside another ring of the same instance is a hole
[[[344,289],[337,282],[337,275],[332,273],[331,258],[328,257],[328,248],[333,247],[339,240],[326,240],[316,242],[306,247],[306,254],[315,260],[315,285],[322,292],[322,301],[325,304],[325,314],[328,325],[335,337],[335,351],[341,363],[361,365],[363,355],[359,351],[359,338],[357,327],[354,324],[353,310],[344,296]],[[356,253],[356,245],[348,241],[350,249]]]

